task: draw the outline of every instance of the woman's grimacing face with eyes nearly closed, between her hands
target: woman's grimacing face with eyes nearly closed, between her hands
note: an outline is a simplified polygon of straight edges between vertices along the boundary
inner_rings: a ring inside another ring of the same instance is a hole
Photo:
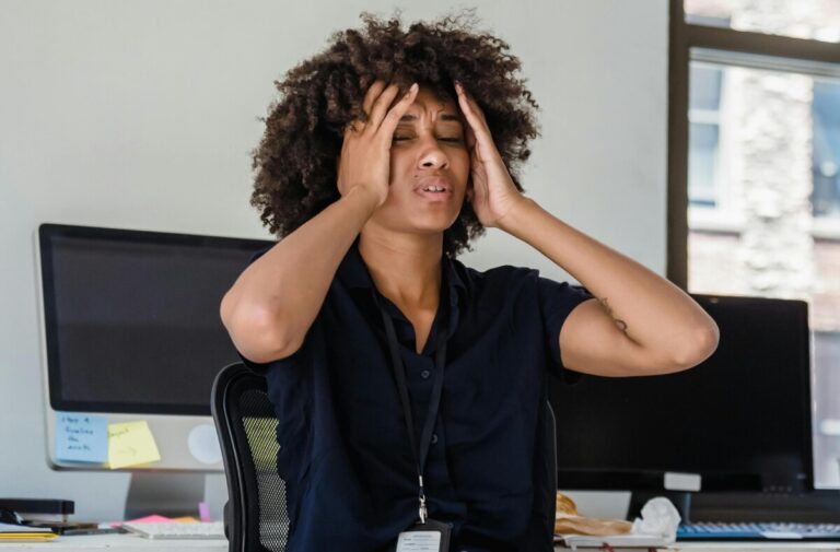
[[[455,102],[420,87],[394,132],[390,188],[373,221],[398,232],[440,233],[452,226],[469,178],[465,125]]]

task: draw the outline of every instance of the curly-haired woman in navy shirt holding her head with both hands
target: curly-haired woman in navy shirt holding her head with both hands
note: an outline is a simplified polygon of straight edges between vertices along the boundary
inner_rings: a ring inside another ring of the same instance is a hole
[[[430,536],[441,550],[550,550],[535,491],[546,369],[677,372],[718,329],[522,193],[537,104],[506,44],[459,17],[364,21],[278,84],[253,203],[283,239],[221,306],[280,420],[287,550]],[[486,227],[585,290],[466,268],[456,256]]]

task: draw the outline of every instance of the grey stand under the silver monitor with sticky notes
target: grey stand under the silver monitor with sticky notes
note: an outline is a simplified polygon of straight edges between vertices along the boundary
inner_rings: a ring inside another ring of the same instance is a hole
[[[203,473],[133,472],[126,497],[124,519],[151,514],[198,517],[205,500]]]

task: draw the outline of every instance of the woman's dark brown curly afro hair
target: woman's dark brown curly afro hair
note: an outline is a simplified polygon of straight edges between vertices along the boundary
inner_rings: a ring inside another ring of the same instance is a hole
[[[538,136],[539,106],[517,75],[518,58],[504,40],[472,31],[474,17],[474,10],[466,10],[404,31],[398,12],[388,21],[365,12],[362,30],[335,33],[323,52],[275,82],[280,98],[262,119],[250,198],[272,234],[287,236],[339,199],[336,161],[345,127],[366,118],[362,101],[377,79],[401,91],[418,82],[456,105],[454,82],[460,82],[485,111],[495,146],[523,189],[517,168],[530,155],[528,141]],[[444,231],[445,255],[470,250],[469,240],[483,232],[464,201],[458,219]]]

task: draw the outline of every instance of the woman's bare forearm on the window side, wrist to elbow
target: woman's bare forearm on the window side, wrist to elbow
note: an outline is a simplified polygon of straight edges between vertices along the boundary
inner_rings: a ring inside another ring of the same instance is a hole
[[[679,287],[524,199],[500,227],[551,259],[603,304],[640,347],[690,364],[716,342],[714,321]]]

